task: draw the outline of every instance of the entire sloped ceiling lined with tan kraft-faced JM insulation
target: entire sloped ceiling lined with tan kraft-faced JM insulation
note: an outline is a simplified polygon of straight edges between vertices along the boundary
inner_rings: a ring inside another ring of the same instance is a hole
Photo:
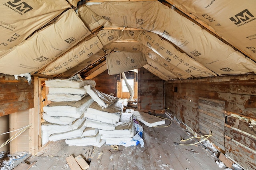
[[[2,0],[0,73],[90,79],[144,67],[163,80],[255,73],[255,5]]]

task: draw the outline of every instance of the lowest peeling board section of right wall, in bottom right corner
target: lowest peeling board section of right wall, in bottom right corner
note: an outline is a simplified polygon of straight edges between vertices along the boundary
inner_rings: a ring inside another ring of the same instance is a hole
[[[237,145],[234,141],[225,138],[226,154],[246,170],[256,169],[256,154],[244,147]]]

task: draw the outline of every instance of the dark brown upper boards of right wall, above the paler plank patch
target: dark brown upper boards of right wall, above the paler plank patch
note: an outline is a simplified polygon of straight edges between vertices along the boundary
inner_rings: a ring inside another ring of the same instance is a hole
[[[192,101],[197,101],[198,96],[222,100],[225,101],[225,110],[256,117],[255,83],[255,74],[171,80],[165,83],[165,91],[168,99],[178,94],[178,98],[191,97]],[[178,87],[176,94],[173,92],[175,86]],[[168,95],[169,92],[171,94]]]

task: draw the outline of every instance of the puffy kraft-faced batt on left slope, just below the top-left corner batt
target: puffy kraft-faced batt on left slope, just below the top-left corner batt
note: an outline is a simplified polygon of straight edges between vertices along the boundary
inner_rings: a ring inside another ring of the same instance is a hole
[[[0,72],[4,74],[34,74],[91,34],[72,9],[58,20],[34,33],[28,40],[12,48],[0,59]]]

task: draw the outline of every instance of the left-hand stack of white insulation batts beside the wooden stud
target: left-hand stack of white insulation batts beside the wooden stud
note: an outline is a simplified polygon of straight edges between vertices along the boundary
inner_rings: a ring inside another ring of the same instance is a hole
[[[83,87],[87,84],[95,86],[96,83],[92,80],[80,80],[78,76],[47,80],[45,83],[50,93],[47,97],[50,96],[54,102],[43,107],[43,119],[46,122],[42,123],[42,144],[49,140],[81,136],[85,129],[84,112],[94,102]]]

